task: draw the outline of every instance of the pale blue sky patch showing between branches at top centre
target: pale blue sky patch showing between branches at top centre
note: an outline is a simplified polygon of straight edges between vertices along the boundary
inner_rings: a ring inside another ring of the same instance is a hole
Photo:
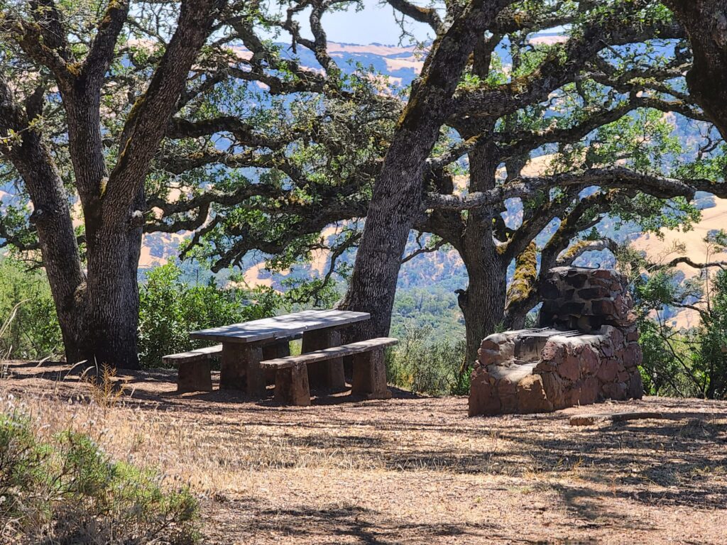
[[[305,28],[304,20],[300,17],[301,28]],[[361,12],[351,9],[348,12],[326,13],[323,25],[330,41],[350,44],[397,44],[401,35],[393,9],[388,4],[379,4],[377,0],[364,0]],[[427,39],[426,25],[407,20],[406,26],[418,40]]]

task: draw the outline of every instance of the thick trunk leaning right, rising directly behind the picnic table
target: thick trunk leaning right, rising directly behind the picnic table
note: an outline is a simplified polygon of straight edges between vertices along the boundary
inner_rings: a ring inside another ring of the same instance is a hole
[[[483,9],[481,2],[465,8],[435,40],[411,90],[374,186],[350,288],[342,302],[342,307],[371,313],[371,320],[353,331],[358,339],[388,334],[401,256],[420,213],[425,161],[448,116],[467,59],[496,12],[492,6]]]

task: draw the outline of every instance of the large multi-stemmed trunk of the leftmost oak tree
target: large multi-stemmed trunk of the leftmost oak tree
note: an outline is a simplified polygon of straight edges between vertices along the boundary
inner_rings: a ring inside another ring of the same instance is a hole
[[[119,160],[111,173],[101,134],[101,95],[129,1],[113,1],[97,25],[84,60],[76,60],[68,29],[52,1],[31,3],[33,20],[11,19],[17,45],[55,79],[68,122],[68,152],[84,215],[87,277],[73,232],[68,198],[41,134],[2,148],[23,177],[35,209],[31,221],[63,331],[66,358],[137,368],[137,267],[145,210],[143,185],[150,161],[177,109],[190,66],[206,41],[218,0],[182,1],[177,28],[146,91],[126,120]],[[39,68],[40,70],[40,68]],[[41,113],[43,94],[25,111],[0,80],[0,134],[28,129]]]

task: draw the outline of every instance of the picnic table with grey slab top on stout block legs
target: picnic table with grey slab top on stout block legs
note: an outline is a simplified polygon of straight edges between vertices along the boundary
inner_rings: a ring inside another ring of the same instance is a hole
[[[260,368],[262,360],[290,355],[289,341],[301,334],[302,353],[339,346],[340,328],[369,318],[368,312],[304,310],[193,331],[190,337],[222,343],[221,389],[246,389],[249,395],[263,397],[266,376]],[[345,387],[343,358],[311,363],[308,379],[312,388]]]

